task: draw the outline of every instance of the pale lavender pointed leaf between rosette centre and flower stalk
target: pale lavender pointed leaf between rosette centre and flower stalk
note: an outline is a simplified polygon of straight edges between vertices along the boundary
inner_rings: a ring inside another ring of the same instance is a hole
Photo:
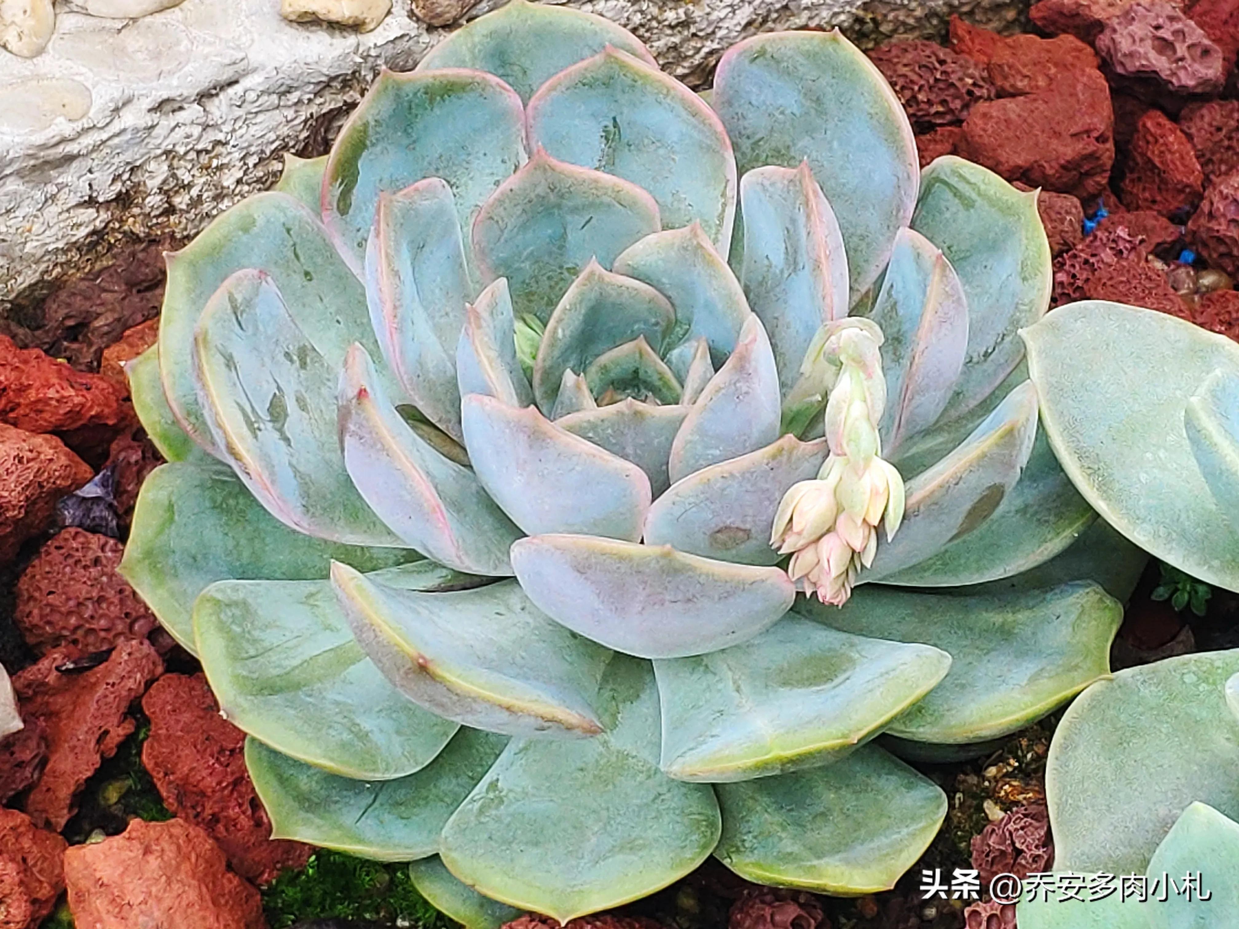
[[[779,436],[779,411],[774,354],[761,320],[750,316],[736,351],[706,384],[672,443],[672,483],[769,445]]]

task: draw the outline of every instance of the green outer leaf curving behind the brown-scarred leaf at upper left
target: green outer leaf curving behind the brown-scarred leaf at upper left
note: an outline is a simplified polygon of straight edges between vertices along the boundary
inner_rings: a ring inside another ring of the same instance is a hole
[[[177,421],[198,445],[223,457],[207,429],[193,368],[193,331],[212,295],[234,273],[270,275],[289,312],[328,364],[353,342],[374,346],[366,291],[341,260],[316,214],[285,193],[258,193],[216,218],[167,256],[160,313],[160,375]]]

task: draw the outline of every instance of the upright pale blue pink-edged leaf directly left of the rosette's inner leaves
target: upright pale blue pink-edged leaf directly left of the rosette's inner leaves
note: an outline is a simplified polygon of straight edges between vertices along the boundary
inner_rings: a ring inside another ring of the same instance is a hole
[[[379,193],[374,211],[366,296],[379,348],[409,401],[460,441],[456,347],[475,289],[456,201],[441,178],[427,177]]]

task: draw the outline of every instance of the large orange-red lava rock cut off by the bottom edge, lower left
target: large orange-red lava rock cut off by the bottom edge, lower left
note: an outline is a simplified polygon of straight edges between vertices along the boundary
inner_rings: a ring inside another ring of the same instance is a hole
[[[118,836],[73,846],[64,878],[77,929],[266,929],[258,891],[183,820],[135,819]]]

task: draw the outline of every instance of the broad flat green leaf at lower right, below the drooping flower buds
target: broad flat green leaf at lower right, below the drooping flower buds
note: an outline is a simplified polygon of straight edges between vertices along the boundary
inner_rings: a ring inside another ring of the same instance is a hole
[[[855,635],[921,642],[950,654],[942,684],[887,727],[892,736],[935,744],[1015,732],[1105,678],[1123,621],[1121,604],[1088,582],[991,596],[865,586],[843,609],[812,600],[797,609]]]

